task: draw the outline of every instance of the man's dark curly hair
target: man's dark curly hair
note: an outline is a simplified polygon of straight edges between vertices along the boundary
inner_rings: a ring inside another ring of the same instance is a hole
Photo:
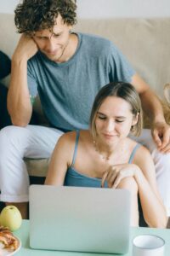
[[[77,0],[23,0],[14,10],[14,22],[19,33],[32,35],[43,29],[53,29],[61,15],[67,25],[77,23]]]

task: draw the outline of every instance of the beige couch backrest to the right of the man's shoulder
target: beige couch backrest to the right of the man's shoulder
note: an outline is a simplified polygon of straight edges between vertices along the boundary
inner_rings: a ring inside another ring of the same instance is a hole
[[[169,29],[170,18],[79,20],[77,24],[77,31],[111,39],[161,97],[164,84],[170,82]]]

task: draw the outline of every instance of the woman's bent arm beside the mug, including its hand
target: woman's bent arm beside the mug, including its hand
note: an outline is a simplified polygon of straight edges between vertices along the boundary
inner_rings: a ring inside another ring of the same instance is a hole
[[[146,148],[138,149],[134,164],[111,166],[102,178],[102,186],[107,180],[109,187],[116,188],[125,177],[133,177],[138,185],[145,222],[150,227],[165,228],[167,214],[156,186],[155,167]]]

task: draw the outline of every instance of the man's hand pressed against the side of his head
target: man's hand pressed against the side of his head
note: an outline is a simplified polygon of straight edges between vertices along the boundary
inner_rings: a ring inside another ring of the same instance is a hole
[[[26,34],[22,34],[19,43],[14,50],[13,60],[28,61],[37,53],[37,50],[37,44],[34,42],[34,40]]]

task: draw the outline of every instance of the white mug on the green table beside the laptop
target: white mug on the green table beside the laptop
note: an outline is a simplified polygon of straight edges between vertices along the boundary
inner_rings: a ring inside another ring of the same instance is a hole
[[[165,241],[159,236],[141,235],[133,239],[133,256],[163,256]]]

